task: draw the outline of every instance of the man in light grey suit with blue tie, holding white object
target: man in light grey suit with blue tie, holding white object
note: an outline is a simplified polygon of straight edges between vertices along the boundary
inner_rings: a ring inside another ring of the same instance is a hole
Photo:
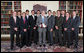
[[[42,11],[41,16],[39,16],[37,19],[38,32],[39,32],[39,46],[42,45],[45,46],[47,24],[48,23],[47,23],[47,17],[45,16],[45,11]],[[43,34],[43,38],[42,38],[42,34]]]

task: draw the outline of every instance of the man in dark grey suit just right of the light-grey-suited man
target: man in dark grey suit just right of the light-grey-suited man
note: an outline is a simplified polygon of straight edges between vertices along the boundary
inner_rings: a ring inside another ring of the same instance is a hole
[[[51,10],[48,10],[48,42],[50,43],[49,45],[53,45],[53,28],[55,24],[55,19],[54,16],[51,15]]]

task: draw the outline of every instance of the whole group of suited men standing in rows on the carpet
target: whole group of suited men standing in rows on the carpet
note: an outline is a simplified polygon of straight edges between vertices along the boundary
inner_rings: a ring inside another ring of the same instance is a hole
[[[52,15],[51,10],[48,10],[48,16],[45,16],[45,11],[40,12],[40,10],[36,15],[34,10],[31,11],[31,15],[29,15],[29,10],[23,13],[14,11],[13,16],[10,17],[9,25],[11,49],[14,47],[14,34],[16,34],[16,46],[21,48],[25,45],[31,46],[32,43],[39,44],[39,46],[46,46],[46,43],[50,46],[53,44],[67,45],[69,48],[73,44],[73,39],[75,48],[78,46],[80,17],[76,15],[76,11],[72,12],[72,17],[69,12],[65,13],[64,10],[61,12],[58,10],[57,16],[55,11]]]

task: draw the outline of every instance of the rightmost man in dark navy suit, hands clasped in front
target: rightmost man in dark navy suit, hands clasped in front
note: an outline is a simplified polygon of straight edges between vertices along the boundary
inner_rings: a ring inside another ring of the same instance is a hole
[[[71,20],[72,25],[71,25],[71,30],[72,30],[72,36],[74,37],[75,40],[75,49],[77,51],[78,48],[78,33],[79,33],[79,25],[80,25],[80,17],[76,16],[76,12],[73,11],[73,18]]]

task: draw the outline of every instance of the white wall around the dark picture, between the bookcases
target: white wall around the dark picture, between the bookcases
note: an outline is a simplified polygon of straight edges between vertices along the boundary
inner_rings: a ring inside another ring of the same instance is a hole
[[[59,1],[21,1],[22,12],[25,12],[26,9],[31,11],[34,4],[44,4],[47,6],[47,10],[57,11],[59,9]]]

